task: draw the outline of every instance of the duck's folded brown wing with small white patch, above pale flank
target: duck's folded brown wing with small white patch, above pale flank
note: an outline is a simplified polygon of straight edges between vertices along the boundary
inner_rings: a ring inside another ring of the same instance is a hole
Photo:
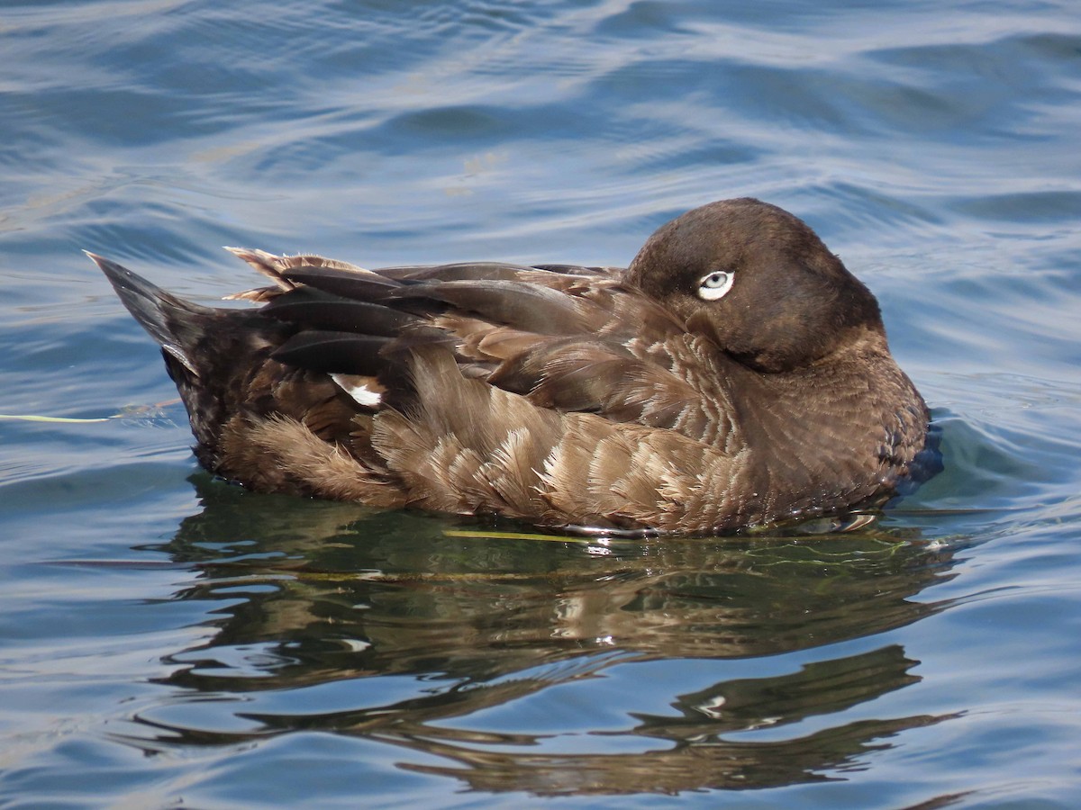
[[[723,359],[624,285],[620,271],[502,262],[362,270],[237,253],[277,274],[262,313],[297,327],[273,357],[332,375],[362,407],[410,408],[409,355],[441,347],[465,377],[538,407],[722,448],[733,438]]]

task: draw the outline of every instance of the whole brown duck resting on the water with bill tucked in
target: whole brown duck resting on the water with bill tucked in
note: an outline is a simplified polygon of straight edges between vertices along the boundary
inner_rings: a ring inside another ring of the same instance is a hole
[[[239,309],[88,255],[161,347],[198,461],[255,491],[708,536],[884,501],[927,442],[875,296],[757,199],[678,216],[626,268],[226,249],[270,280]]]

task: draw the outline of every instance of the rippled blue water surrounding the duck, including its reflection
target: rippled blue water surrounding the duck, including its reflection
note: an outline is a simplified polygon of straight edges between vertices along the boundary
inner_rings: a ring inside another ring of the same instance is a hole
[[[6,2],[0,42],[0,413],[136,406],[0,420],[0,804],[1077,806],[1075,4]],[[933,406],[945,472],[863,528],[224,485],[79,253],[211,300],[223,244],[623,264],[744,194]]]

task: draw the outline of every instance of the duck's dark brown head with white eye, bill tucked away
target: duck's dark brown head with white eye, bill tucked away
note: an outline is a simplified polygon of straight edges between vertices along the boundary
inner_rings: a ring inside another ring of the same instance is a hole
[[[868,333],[884,337],[875,296],[817,234],[750,198],[662,226],[628,279],[761,372],[805,366]]]

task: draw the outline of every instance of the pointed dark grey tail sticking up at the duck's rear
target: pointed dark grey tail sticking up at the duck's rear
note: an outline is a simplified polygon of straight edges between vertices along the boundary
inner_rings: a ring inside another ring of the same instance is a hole
[[[191,353],[201,334],[200,324],[212,318],[214,310],[177,298],[104,256],[83,253],[102,269],[121,302],[162,350],[198,377]]]

